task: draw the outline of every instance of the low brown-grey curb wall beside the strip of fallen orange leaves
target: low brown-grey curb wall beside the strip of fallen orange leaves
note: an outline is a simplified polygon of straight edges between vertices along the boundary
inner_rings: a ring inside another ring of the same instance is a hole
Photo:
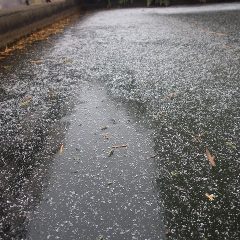
[[[79,11],[80,5],[71,1],[0,12],[0,49],[23,36]]]

